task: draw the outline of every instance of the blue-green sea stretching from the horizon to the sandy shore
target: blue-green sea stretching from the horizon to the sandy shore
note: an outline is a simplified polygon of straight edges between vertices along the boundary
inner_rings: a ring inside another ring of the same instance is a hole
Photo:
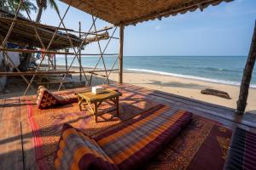
[[[104,57],[108,69],[116,56]],[[70,65],[73,57],[67,58]],[[99,57],[83,57],[84,67],[94,67]],[[239,86],[247,56],[124,56],[124,70],[144,72],[195,80],[218,82]],[[56,57],[57,65],[65,65],[63,57]],[[73,65],[79,65],[75,59]],[[255,66],[256,67],[256,66]],[[103,68],[102,60],[97,68]],[[118,62],[113,68],[118,68]],[[251,88],[256,88],[256,68],[253,70]]]

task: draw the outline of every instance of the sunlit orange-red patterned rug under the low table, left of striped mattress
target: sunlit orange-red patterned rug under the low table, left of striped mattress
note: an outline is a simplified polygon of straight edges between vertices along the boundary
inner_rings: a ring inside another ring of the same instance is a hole
[[[79,110],[78,103],[39,110],[38,105],[35,105],[33,100],[26,99],[27,119],[32,131],[38,167],[40,169],[53,168],[51,165],[53,165],[53,157],[63,123],[69,123],[87,135],[92,135],[101,133],[109,127],[125,122],[131,117],[159,105],[135,92],[121,91],[121,93],[122,96],[119,98],[119,116],[116,116],[115,111],[105,113],[98,116],[97,123],[94,121],[93,115],[86,108],[83,111]],[[112,106],[108,103],[102,103],[98,111],[101,114],[102,111],[112,109]]]

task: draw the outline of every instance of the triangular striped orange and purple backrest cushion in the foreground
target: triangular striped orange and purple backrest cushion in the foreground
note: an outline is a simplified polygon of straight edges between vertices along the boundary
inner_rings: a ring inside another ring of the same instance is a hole
[[[55,169],[116,170],[118,167],[94,139],[64,124],[55,156]]]

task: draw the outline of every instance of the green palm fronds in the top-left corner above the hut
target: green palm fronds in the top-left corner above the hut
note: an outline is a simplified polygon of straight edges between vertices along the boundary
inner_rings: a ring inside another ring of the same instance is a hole
[[[38,8],[34,5],[34,3],[30,2],[29,0],[23,0],[24,6],[20,6],[20,11],[25,11],[27,9],[27,12],[30,14],[31,11],[38,11]],[[15,13],[15,10],[18,8],[20,4],[20,0],[0,0],[0,7],[5,8],[9,10],[12,13]],[[19,14],[20,14],[19,11]]]

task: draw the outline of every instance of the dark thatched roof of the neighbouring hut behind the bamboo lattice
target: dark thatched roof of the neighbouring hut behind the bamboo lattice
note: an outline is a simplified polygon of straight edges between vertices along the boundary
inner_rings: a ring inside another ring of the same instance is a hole
[[[0,9],[0,13],[2,13],[3,17],[0,17],[0,35],[5,37],[9,31],[9,27],[11,26],[12,22],[15,21],[15,26],[13,31],[10,34],[8,42],[14,42],[19,45],[26,45],[29,44],[32,47],[42,48],[41,43],[36,36],[36,32],[34,30],[33,25],[37,26],[38,35],[41,37],[42,42],[44,42],[45,48],[47,48],[51,38],[53,37],[56,27],[54,26],[47,26],[43,24],[39,24],[36,22],[31,22],[26,20],[26,18],[18,17],[17,20],[13,20],[13,14],[8,14],[8,12]],[[7,13],[7,14],[3,14]],[[72,30],[71,30],[72,31]],[[79,47],[81,42],[83,41],[81,38],[73,35],[68,34],[73,42],[74,47]],[[108,39],[108,32],[104,32],[98,35],[100,40]],[[84,44],[95,42],[96,36],[90,36],[85,41]],[[67,34],[65,31],[57,31],[55,35],[54,42],[51,44],[50,49],[61,49],[61,48],[71,48],[71,43],[67,38]]]

